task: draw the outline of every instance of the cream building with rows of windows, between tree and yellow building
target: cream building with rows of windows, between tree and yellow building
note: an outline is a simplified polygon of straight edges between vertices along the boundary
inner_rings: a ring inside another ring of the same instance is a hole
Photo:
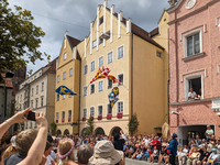
[[[15,94],[16,110],[25,110],[30,107],[35,112],[43,111],[48,123],[52,123],[55,110],[55,80],[56,59],[40,68],[20,85]],[[36,128],[34,121],[20,124],[20,131]]]

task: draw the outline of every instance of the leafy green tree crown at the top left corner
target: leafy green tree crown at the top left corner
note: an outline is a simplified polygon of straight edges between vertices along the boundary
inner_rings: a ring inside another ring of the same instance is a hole
[[[35,64],[36,59],[44,59],[37,48],[45,33],[33,24],[31,11],[18,6],[14,8],[15,12],[12,12],[8,0],[0,2],[0,73],[13,72],[29,62]],[[44,56],[50,61],[50,55],[44,53]]]

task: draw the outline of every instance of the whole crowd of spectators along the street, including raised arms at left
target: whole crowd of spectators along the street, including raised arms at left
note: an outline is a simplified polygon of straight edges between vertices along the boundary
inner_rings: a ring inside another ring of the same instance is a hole
[[[217,165],[220,161],[220,139],[207,125],[206,139],[189,138],[180,147],[177,134],[170,139],[157,135],[131,136],[121,130],[108,135],[57,135],[47,132],[43,112],[35,113],[38,130],[25,130],[11,135],[8,129],[28,121],[23,118],[31,109],[18,112],[0,124],[0,165],[124,165],[124,157],[165,165]]]

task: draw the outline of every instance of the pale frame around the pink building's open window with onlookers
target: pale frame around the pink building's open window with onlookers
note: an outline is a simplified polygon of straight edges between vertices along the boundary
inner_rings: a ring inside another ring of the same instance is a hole
[[[185,100],[188,101],[188,92],[189,92],[189,80],[194,78],[201,77],[201,99],[204,99],[204,75],[193,75],[185,78]]]

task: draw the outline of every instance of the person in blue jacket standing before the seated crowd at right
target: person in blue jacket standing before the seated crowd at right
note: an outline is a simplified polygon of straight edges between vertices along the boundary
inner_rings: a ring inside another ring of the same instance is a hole
[[[177,155],[177,134],[173,133],[173,139],[169,142],[169,146],[166,147],[166,150],[169,150],[170,154],[169,154],[169,163],[172,165],[175,165],[175,157]]]

